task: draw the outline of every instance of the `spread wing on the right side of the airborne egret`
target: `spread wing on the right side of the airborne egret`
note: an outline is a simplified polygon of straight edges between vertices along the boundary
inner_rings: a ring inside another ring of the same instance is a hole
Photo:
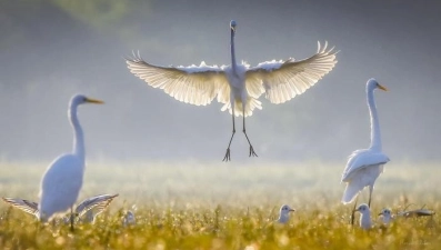
[[[320,47],[312,57],[294,61],[267,61],[247,71],[247,87],[260,82],[263,86],[265,98],[272,103],[282,103],[291,100],[298,94],[303,93],[314,86],[320,79],[329,73],[335,66],[335,54],[333,48],[327,50],[328,42]],[[251,88],[250,88],[251,89]]]

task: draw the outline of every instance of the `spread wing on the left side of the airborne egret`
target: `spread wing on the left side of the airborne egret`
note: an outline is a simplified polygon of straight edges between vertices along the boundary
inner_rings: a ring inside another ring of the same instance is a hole
[[[162,89],[174,99],[190,104],[207,106],[222,86],[228,86],[223,69],[204,62],[199,67],[159,67],[146,62],[139,54],[126,62],[130,72],[149,86]]]

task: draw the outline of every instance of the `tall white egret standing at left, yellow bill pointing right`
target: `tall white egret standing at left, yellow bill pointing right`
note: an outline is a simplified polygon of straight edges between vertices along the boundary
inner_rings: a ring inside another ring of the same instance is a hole
[[[103,103],[82,94],[73,96],[69,103],[68,116],[73,127],[73,151],[58,157],[47,169],[41,180],[38,210],[40,221],[48,221],[54,213],[73,214],[73,203],[78,199],[84,173],[84,137],[77,117],[77,108],[83,103]],[[73,230],[73,216],[71,216]]]

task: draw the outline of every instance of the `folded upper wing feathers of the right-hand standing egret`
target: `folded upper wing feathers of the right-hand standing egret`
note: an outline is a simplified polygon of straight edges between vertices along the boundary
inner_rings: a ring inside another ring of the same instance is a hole
[[[389,161],[388,156],[382,152],[374,152],[369,149],[357,150],[349,157],[341,181],[347,182],[352,173],[373,164],[384,164]]]

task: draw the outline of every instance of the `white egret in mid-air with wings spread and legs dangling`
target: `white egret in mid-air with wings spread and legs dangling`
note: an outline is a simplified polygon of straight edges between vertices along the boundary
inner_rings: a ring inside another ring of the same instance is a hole
[[[229,161],[230,146],[235,133],[234,116],[243,117],[242,132],[250,146],[250,157],[257,157],[245,130],[245,117],[251,116],[255,108],[262,109],[258,98],[265,93],[272,103],[282,103],[303,93],[315,84],[335,66],[333,48],[327,50],[328,42],[320,47],[312,57],[294,61],[293,58],[280,61],[265,61],[257,67],[235,62],[234,34],[237,22],[230,22],[231,64],[207,66],[201,62],[190,67],[160,67],[146,62],[139,54],[127,59],[130,71],[144,80],[149,86],[166,91],[174,99],[196,106],[207,106],[216,97],[223,103],[222,111],[232,114],[233,130],[228,143],[223,161]]]

